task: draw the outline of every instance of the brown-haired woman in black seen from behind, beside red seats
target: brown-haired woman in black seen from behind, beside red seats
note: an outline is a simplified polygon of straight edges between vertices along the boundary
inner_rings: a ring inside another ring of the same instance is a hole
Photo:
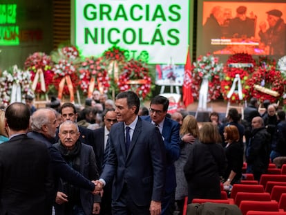
[[[227,159],[218,128],[204,122],[200,142],[191,145],[184,175],[188,182],[188,203],[193,198],[220,199],[220,176],[225,172]]]

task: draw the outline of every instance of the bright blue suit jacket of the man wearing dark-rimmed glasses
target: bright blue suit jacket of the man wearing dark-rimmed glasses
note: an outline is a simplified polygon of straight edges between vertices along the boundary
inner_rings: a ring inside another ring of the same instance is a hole
[[[143,120],[151,122],[151,117],[144,116]],[[166,184],[165,191],[171,192],[175,191],[175,187],[177,186],[175,180],[175,160],[178,160],[180,157],[180,124],[171,120],[170,118],[165,118],[164,125],[162,129],[162,136],[164,137],[164,146],[166,149]]]

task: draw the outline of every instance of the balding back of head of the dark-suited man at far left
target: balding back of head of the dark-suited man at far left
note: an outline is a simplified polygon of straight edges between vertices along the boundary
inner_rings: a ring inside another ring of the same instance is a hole
[[[28,129],[30,123],[30,110],[26,104],[14,102],[10,104],[5,112],[5,117],[10,129],[21,131]]]

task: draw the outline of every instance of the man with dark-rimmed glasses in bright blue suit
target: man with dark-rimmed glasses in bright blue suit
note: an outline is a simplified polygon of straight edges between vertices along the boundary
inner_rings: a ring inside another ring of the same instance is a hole
[[[155,124],[164,140],[166,149],[166,178],[164,198],[162,198],[162,214],[173,214],[175,205],[175,187],[177,186],[175,180],[175,160],[180,156],[180,124],[166,118],[168,111],[169,100],[162,96],[156,95],[152,98],[150,104],[150,115],[144,116],[142,119]]]

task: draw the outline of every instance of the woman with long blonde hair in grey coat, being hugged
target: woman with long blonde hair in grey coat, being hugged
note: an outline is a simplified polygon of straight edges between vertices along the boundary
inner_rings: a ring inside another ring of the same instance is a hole
[[[177,180],[177,187],[175,189],[175,201],[177,203],[180,214],[182,214],[184,207],[184,198],[188,196],[188,184],[184,177],[184,165],[189,156],[189,150],[193,143],[198,143],[199,129],[198,122],[193,115],[187,115],[180,128],[180,158],[175,161],[175,174]]]

